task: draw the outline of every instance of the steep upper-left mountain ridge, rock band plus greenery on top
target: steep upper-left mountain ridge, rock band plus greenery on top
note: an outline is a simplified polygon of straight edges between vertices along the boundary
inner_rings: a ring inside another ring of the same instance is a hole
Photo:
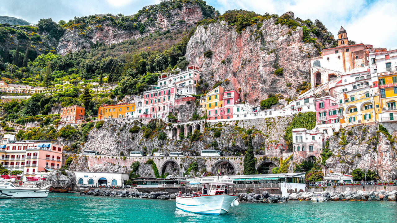
[[[186,29],[198,21],[214,17],[218,12],[201,0],[176,0],[146,6],[131,16],[90,15],[70,20],[63,25],[65,35],[60,39],[57,52],[65,55],[96,42],[106,45],[124,40],[146,37],[150,33]]]

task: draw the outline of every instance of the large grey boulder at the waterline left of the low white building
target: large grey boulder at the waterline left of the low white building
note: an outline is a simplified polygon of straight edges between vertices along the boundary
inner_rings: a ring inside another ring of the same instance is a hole
[[[75,174],[66,169],[51,171],[46,180],[51,182],[50,191],[69,192],[77,190]]]

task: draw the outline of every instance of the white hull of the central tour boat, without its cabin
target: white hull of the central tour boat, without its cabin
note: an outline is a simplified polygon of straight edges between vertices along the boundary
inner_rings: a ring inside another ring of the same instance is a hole
[[[220,215],[229,211],[234,195],[204,195],[197,197],[176,197],[176,207],[190,213]]]

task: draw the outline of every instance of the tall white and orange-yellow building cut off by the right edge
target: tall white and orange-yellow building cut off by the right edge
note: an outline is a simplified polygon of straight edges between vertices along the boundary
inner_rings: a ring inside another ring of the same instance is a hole
[[[397,50],[370,54],[370,72],[376,75],[374,88],[378,88],[375,100],[379,107],[380,122],[397,120]]]

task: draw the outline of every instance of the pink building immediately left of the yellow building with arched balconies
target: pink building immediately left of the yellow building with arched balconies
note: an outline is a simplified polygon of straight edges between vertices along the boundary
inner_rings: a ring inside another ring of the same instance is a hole
[[[339,123],[339,108],[331,96],[316,98],[316,121],[318,125]]]

